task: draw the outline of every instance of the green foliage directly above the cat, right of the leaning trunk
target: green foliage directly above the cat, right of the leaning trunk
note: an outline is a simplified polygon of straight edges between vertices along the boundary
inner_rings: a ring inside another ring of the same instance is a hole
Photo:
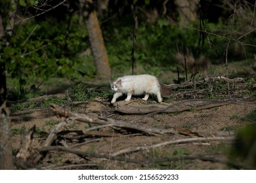
[[[114,31],[112,27],[115,27]],[[132,24],[123,25],[122,22],[117,22],[104,29],[106,46],[110,53],[110,65],[114,68],[114,74],[118,75],[120,70],[122,73],[131,70],[132,27]],[[191,24],[190,27],[195,25]],[[108,33],[110,31],[112,34]],[[196,55],[198,39],[199,33],[196,29],[182,29],[178,25],[170,25],[166,19],[159,19],[155,24],[141,22],[136,31],[135,41],[137,74],[146,72],[158,76],[161,71],[176,71],[175,54],[189,48],[190,52]],[[212,49],[205,44],[201,50],[205,52]]]

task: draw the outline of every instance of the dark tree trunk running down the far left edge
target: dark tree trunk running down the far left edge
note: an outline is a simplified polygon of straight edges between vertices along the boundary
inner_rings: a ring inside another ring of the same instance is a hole
[[[0,9],[0,48],[9,46],[14,27],[14,15],[17,2],[3,1]],[[0,50],[3,53],[3,50]],[[7,107],[7,85],[5,76],[5,61],[0,57],[0,169],[13,169],[11,118]]]

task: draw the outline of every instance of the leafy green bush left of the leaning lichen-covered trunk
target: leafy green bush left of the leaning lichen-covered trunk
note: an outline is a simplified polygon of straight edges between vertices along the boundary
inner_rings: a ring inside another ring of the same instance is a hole
[[[77,53],[89,46],[87,30],[83,26],[78,28],[77,21],[78,17],[72,16],[68,34],[66,22],[56,22],[54,18],[39,24],[30,20],[16,29],[11,44],[1,50],[0,61],[6,63],[8,78],[16,80],[12,88],[18,98],[31,92],[28,86],[49,77],[74,78],[79,72],[78,65],[86,64],[87,58],[82,59]]]

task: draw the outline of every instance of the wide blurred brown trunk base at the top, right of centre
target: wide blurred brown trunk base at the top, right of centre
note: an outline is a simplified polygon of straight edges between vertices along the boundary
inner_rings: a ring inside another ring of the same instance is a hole
[[[175,0],[174,3],[182,18],[182,23],[188,23],[196,20],[199,0]]]

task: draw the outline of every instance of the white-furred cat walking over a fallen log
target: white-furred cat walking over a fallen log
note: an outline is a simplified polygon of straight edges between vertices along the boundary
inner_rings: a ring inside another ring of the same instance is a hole
[[[113,96],[111,103],[115,103],[116,99],[123,94],[127,94],[125,101],[131,99],[131,95],[144,94],[143,100],[146,101],[150,94],[155,94],[158,97],[158,102],[161,103],[161,86],[158,78],[152,75],[131,75],[117,78],[116,81],[110,84],[112,90],[116,93]]]

